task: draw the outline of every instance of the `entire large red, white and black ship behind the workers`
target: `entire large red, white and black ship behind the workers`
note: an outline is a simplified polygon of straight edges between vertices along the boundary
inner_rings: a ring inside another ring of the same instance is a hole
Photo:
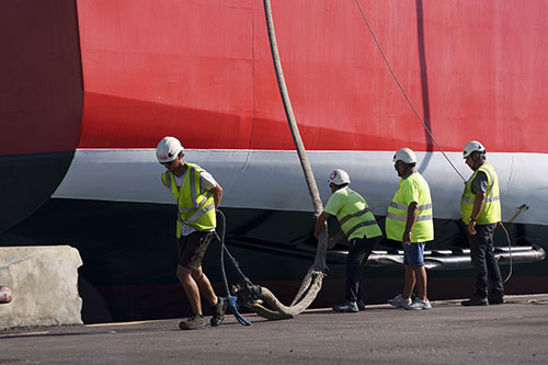
[[[272,11],[322,199],[329,172],[345,169],[383,225],[393,152],[415,150],[434,203],[431,297],[466,296],[461,149],[480,140],[515,261],[523,252],[528,262],[506,289],[546,290],[548,3],[295,0]],[[175,208],[155,156],[175,136],[224,187],[227,242],[244,271],[290,298],[313,258],[312,205],[261,0],[8,0],[0,24],[0,244],[76,247],[88,322],[179,316]],[[507,258],[502,230],[496,240]],[[342,296],[338,249],[316,305]],[[215,250],[204,266],[218,281]],[[369,301],[401,285],[397,243],[378,250],[365,271]]]

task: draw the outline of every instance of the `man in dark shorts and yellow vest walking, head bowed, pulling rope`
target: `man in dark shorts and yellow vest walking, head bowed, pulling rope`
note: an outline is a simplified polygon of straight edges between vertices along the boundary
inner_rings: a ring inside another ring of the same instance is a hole
[[[192,307],[192,317],[179,323],[182,330],[206,327],[202,313],[199,294],[212,305],[212,326],[225,319],[226,303],[219,298],[202,271],[202,259],[217,225],[215,209],[222,197],[222,189],[204,169],[183,161],[183,146],[174,137],[165,137],[158,144],[158,162],[167,169],[162,183],[178,203],[176,239],[179,265],[176,276]]]

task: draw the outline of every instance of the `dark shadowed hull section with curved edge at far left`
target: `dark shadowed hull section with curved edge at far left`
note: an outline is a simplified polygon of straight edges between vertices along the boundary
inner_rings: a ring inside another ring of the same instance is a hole
[[[73,1],[0,4],[0,232],[57,189],[78,146],[83,87]]]

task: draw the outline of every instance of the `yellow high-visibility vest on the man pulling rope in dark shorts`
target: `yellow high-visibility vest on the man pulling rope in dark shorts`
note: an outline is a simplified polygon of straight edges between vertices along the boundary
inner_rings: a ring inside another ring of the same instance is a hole
[[[169,171],[162,173],[162,183],[171,189],[179,206],[176,237],[181,237],[182,224],[198,231],[214,229],[217,226],[215,201],[210,191],[202,191],[199,173],[205,170],[194,163],[186,164],[186,174],[181,190],[178,190],[175,178]]]

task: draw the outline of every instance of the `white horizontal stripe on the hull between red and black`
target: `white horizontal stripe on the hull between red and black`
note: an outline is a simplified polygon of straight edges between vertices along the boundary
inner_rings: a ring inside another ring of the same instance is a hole
[[[460,152],[447,153],[464,176],[472,171]],[[393,151],[309,151],[323,202],[329,198],[329,173],[344,169],[352,190],[365,197],[375,215],[385,216],[399,178]],[[459,219],[464,183],[441,153],[416,152],[418,170],[429,182],[434,218]],[[548,225],[547,153],[488,153],[499,175],[502,220],[522,204],[529,209],[516,223]],[[206,169],[224,189],[221,207],[312,212],[295,151],[185,150],[185,159]],[[54,197],[174,204],[162,187],[164,168],[153,149],[78,149]]]

